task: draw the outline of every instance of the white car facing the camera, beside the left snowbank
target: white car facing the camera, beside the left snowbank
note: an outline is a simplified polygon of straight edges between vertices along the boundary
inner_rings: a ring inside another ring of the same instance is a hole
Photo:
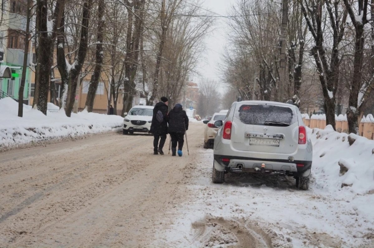
[[[151,129],[153,106],[137,105],[130,109],[130,112],[125,113],[123,119],[123,134],[134,132],[148,133]]]

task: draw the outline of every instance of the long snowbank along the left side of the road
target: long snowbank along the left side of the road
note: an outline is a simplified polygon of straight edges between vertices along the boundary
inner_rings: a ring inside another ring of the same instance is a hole
[[[23,117],[18,117],[18,103],[10,97],[0,99],[0,150],[53,138],[77,137],[109,131],[120,127],[123,118],[117,115],[88,113],[67,117],[58,106],[48,103],[47,115],[24,105]]]

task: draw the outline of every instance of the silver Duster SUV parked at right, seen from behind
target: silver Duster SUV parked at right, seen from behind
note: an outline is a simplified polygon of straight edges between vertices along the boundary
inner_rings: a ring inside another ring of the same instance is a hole
[[[309,188],[313,147],[297,106],[266,101],[234,102],[224,121],[215,121],[212,181],[225,173],[285,173]]]

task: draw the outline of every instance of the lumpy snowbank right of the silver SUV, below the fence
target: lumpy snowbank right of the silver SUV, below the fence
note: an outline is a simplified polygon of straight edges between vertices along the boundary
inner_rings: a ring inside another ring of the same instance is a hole
[[[316,188],[356,194],[374,193],[374,141],[355,134],[308,128],[313,143]],[[351,144],[351,145],[350,145]]]

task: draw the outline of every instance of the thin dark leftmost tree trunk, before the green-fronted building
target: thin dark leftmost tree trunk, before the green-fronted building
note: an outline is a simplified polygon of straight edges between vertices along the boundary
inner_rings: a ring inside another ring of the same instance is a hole
[[[25,50],[24,50],[24,61],[22,65],[22,77],[21,86],[18,92],[18,116],[23,116],[23,94],[25,89],[26,81],[26,70],[27,70],[27,55],[30,46],[30,15],[31,15],[31,0],[27,0],[27,14],[26,14],[26,34],[25,34]]]

